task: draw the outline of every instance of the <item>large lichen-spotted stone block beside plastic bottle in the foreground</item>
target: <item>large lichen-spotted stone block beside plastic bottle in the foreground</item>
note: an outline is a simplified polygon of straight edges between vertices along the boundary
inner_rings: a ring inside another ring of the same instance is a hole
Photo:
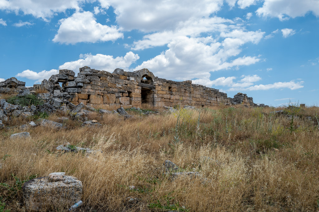
[[[23,185],[23,199],[27,208],[33,210],[63,209],[81,200],[81,181],[73,176],[56,177],[52,174],[48,177],[34,178]],[[58,181],[51,178],[58,179]]]

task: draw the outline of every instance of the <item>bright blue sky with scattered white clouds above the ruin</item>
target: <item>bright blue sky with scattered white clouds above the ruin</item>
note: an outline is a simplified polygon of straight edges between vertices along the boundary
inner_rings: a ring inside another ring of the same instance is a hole
[[[319,0],[0,0],[0,80],[148,68],[255,103],[319,105]]]

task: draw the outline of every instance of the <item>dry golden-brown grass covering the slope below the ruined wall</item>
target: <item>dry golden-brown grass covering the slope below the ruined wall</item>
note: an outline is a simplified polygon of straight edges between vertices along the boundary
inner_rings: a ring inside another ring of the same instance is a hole
[[[16,118],[12,128],[1,131],[0,182],[13,185],[11,174],[25,180],[64,171],[83,183],[81,211],[316,211],[319,130],[306,117],[319,109],[300,110],[293,131],[287,129],[291,124],[286,116],[265,115],[273,110],[278,109],[211,107],[150,116],[130,112],[134,117],[128,120],[94,113],[89,119],[103,127],[80,127],[80,122],[67,120],[59,131],[30,128],[27,140],[9,139],[21,132],[14,125],[30,120]],[[48,119],[57,121],[62,115]],[[180,141],[174,143],[176,129]],[[56,153],[65,142],[103,153]],[[160,173],[167,159],[202,177],[171,181]],[[131,185],[136,189],[130,190]],[[0,196],[6,194],[1,187]],[[140,201],[130,204],[125,201],[129,196]],[[2,201],[5,209],[27,211],[21,190]]]

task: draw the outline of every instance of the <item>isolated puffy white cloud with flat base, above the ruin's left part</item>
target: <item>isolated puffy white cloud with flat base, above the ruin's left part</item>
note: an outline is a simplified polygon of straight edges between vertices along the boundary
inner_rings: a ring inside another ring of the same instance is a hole
[[[60,20],[60,28],[53,41],[66,44],[79,42],[114,41],[123,38],[121,28],[102,25],[96,22],[89,11],[76,12],[72,16]]]

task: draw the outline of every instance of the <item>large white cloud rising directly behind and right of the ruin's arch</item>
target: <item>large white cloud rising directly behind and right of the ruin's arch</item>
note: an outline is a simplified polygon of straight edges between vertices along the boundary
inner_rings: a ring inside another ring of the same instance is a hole
[[[210,77],[210,72],[251,65],[260,60],[257,57],[244,56],[226,62],[229,57],[240,53],[240,50],[223,48],[222,43],[215,42],[211,37],[188,38],[180,36],[167,46],[168,50],[144,61],[135,70],[148,68],[155,76],[167,79],[205,79]]]

